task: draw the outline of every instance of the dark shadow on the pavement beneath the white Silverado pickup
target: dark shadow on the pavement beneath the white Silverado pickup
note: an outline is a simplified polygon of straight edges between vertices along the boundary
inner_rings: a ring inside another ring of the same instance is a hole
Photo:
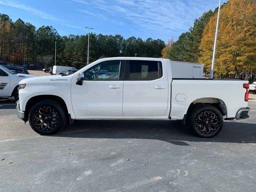
[[[213,138],[194,136],[178,121],[158,120],[77,120],[54,137],[154,139],[175,145],[189,146],[186,142],[256,143],[256,124],[224,122],[220,134]]]

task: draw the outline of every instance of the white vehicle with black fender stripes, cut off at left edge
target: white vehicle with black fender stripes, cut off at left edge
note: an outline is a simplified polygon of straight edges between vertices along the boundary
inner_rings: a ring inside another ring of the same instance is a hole
[[[34,77],[28,74],[16,74],[4,66],[0,66],[0,97],[12,97],[19,99],[18,86],[22,79]]]

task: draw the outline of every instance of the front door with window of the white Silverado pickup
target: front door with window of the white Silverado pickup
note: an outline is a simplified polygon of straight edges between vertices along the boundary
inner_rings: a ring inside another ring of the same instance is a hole
[[[75,116],[123,116],[122,66],[124,60],[96,64],[84,72],[82,86],[72,84],[71,98]]]

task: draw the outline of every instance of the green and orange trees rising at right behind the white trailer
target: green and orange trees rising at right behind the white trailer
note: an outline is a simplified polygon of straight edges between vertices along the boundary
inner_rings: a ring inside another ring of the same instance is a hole
[[[196,19],[177,41],[169,40],[164,58],[204,64],[210,71],[217,20],[216,8]],[[215,78],[256,80],[256,0],[228,0],[220,10]]]

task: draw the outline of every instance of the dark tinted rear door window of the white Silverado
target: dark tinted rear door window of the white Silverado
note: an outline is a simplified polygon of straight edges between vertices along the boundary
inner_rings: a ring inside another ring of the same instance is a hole
[[[125,65],[125,80],[150,81],[162,77],[162,63],[158,61],[128,60]]]

